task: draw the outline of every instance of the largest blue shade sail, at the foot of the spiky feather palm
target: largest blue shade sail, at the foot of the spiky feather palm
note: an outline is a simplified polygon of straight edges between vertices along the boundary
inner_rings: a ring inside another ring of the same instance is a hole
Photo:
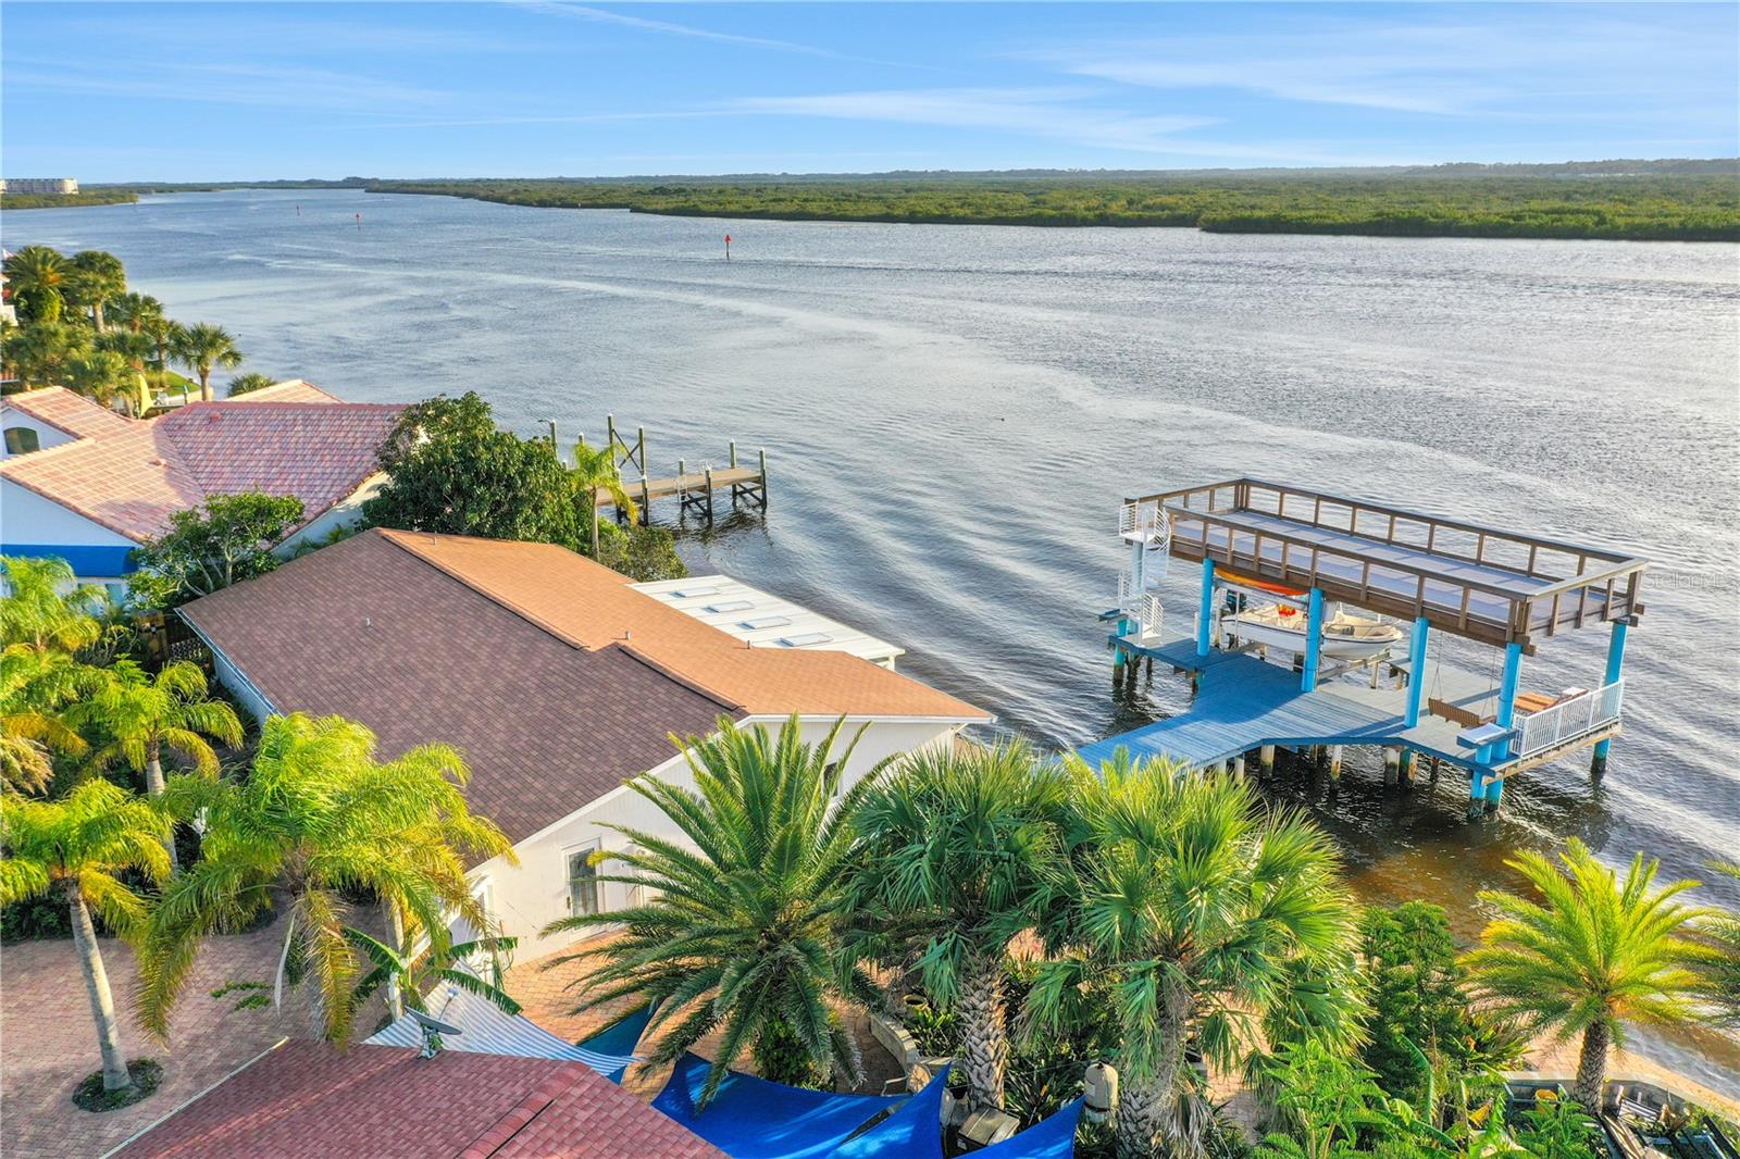
[[[907,1102],[907,1096],[806,1091],[733,1070],[706,1110],[696,1112],[694,1100],[706,1088],[710,1065],[684,1055],[652,1105],[731,1159],[828,1159],[847,1135]]]

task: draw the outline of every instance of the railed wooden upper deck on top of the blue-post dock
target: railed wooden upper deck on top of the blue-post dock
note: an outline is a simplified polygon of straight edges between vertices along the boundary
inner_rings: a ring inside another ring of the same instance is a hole
[[[1317,586],[1335,600],[1423,616],[1495,644],[1533,647],[1535,633],[1634,621],[1643,613],[1648,564],[1604,548],[1260,479],[1166,491],[1126,505],[1168,512],[1173,555]]]

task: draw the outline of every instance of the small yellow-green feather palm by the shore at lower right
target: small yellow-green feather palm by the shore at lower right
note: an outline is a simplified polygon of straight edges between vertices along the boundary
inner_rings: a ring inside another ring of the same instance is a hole
[[[1576,1100],[1594,1110],[1610,1048],[1623,1042],[1627,1023],[1662,1027],[1698,1018],[1700,978],[1691,966],[1705,954],[1681,931],[1714,910],[1674,901],[1695,881],[1651,891],[1660,863],[1643,853],[1623,882],[1575,837],[1559,860],[1563,870],[1538,853],[1505,861],[1540,901],[1481,891],[1481,901],[1500,917],[1463,962],[1476,999],[1529,1034],[1550,1028],[1559,1041],[1583,1035]]]

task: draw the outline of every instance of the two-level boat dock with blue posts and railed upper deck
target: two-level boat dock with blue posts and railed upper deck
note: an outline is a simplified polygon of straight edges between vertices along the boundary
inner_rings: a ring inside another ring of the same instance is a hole
[[[1119,606],[1101,616],[1115,625],[1115,679],[1134,680],[1143,663],[1152,673],[1159,660],[1190,677],[1195,700],[1176,717],[1084,747],[1088,760],[1124,748],[1242,767],[1256,750],[1267,769],[1275,747],[1322,747],[1336,776],[1343,745],[1376,745],[1385,780],[1406,780],[1416,755],[1434,771],[1467,769],[1470,816],[1498,807],[1507,776],[1569,752],[1592,747],[1592,773],[1606,767],[1620,733],[1625,635],[1644,611],[1643,559],[1248,477],[1128,498],[1119,533],[1131,564]],[[1188,635],[1164,628],[1159,580],[1173,559],[1201,567]],[[1216,616],[1228,597],[1234,607],[1263,599],[1300,609],[1291,670],[1270,663],[1274,642],[1241,642],[1239,625]],[[1326,604],[1411,621],[1406,656],[1326,658]],[[1526,656],[1561,632],[1601,625],[1610,644],[1599,684],[1522,689]],[[1432,656],[1439,632],[1502,651],[1498,684]],[[1361,667],[1366,684],[1336,679]]]

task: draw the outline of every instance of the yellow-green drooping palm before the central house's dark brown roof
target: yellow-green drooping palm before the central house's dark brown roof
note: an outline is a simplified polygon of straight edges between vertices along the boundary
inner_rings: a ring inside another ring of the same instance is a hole
[[[176,877],[151,914],[139,952],[139,1020],[164,1035],[205,935],[282,905],[289,910],[273,999],[311,980],[320,1032],[345,1044],[360,962],[346,933],[345,894],[372,891],[414,915],[437,948],[447,921],[489,919],[466,865],[512,846],[465,804],[458,752],[423,745],[379,762],[374,733],[343,717],[270,717],[245,781],[177,776],[176,816],[204,816],[200,860]]]

